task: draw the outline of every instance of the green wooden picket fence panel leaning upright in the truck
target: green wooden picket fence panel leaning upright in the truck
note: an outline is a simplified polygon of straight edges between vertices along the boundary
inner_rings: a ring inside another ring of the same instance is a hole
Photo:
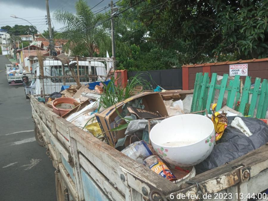
[[[207,109],[211,114],[210,105],[214,103],[215,91],[219,90],[216,111],[222,108],[225,91],[227,91],[226,105],[236,111],[241,112],[244,116],[265,118],[268,107],[268,83],[267,79],[255,79],[254,88],[251,87],[251,77],[247,76],[244,87],[241,88],[240,76],[236,75],[228,83],[228,74],[224,74],[221,84],[216,84],[217,74],[212,73],[211,82],[208,73],[197,73],[194,82],[194,95],[191,105],[191,112],[197,112]],[[252,94],[249,102],[250,94]],[[258,100],[258,105],[256,107]],[[240,102],[240,104],[239,104]],[[257,113],[254,116],[255,108]]]

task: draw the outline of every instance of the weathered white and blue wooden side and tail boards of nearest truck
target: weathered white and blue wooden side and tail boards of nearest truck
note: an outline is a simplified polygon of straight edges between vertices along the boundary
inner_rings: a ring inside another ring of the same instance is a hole
[[[152,200],[153,194],[168,200],[198,200],[198,191],[202,197],[211,195],[207,200],[242,200],[242,195],[245,198],[268,188],[268,144],[180,185],[59,117],[33,96],[31,106],[56,169],[56,183],[73,200],[141,201]]]

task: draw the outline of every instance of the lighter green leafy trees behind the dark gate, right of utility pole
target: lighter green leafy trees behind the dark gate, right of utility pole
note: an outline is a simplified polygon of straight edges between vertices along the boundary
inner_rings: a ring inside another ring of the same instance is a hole
[[[139,5],[127,10],[129,5],[123,0],[117,6],[120,7],[120,11],[126,11],[114,19],[115,38],[130,49],[126,55],[116,53],[118,69],[146,71],[181,66],[180,55],[175,49],[164,49],[152,40],[147,27],[139,20]]]

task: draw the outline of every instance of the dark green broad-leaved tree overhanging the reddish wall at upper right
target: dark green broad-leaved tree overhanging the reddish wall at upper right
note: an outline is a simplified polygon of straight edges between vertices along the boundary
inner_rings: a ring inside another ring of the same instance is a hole
[[[176,50],[183,63],[267,57],[267,0],[148,0],[133,10],[150,40]]]

